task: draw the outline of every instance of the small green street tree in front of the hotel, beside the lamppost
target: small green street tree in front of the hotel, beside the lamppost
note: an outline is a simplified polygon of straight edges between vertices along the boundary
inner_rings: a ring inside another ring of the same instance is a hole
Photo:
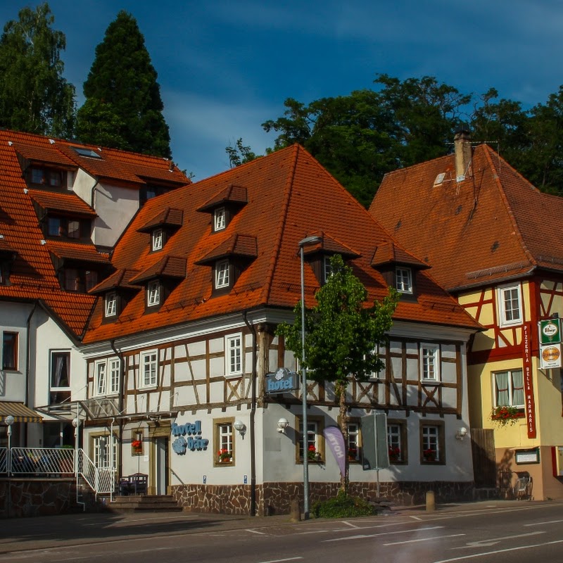
[[[315,381],[332,381],[339,398],[339,424],[345,443],[348,442],[346,388],[350,377],[365,381],[369,374],[383,368],[377,353],[378,345],[386,341],[393,324],[393,312],[398,293],[390,288],[381,302],[367,303],[367,289],[345,265],[341,255],[331,258],[333,274],[317,291],[317,305],[305,309],[305,368]],[[296,322],[283,323],[277,334],[284,336],[286,347],[296,358],[303,357],[301,340],[301,302],[295,309]],[[306,452],[304,453],[306,455]],[[341,486],[348,487],[348,457],[346,474]]]

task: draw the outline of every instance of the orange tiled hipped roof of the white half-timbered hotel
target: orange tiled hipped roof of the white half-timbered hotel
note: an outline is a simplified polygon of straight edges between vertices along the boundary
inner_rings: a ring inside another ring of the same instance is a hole
[[[211,212],[215,204],[230,201],[227,196],[233,194],[232,186],[243,186],[246,205],[236,208],[226,229],[213,232]],[[182,227],[170,236],[162,251],[153,252],[151,234],[142,227],[170,207],[182,210]],[[353,271],[370,298],[386,296],[384,277],[371,261],[377,246],[392,243],[391,237],[301,146],[285,148],[154,198],[139,210],[118,241],[113,265],[117,270],[153,272],[163,256],[183,257],[186,276],[158,311],[146,312],[144,290],[139,289],[118,322],[103,323],[100,300],[84,341],[113,339],[250,308],[292,309],[301,295],[298,241],[318,233],[326,236],[327,248],[320,244],[317,250],[348,249]],[[239,260],[241,274],[228,293],[212,294],[213,269],[208,260],[223,256]],[[115,286],[115,281],[107,286]],[[306,265],[305,289],[310,304],[318,286],[312,268]],[[418,301],[401,302],[396,320],[478,328],[428,274],[419,274],[417,289]]]

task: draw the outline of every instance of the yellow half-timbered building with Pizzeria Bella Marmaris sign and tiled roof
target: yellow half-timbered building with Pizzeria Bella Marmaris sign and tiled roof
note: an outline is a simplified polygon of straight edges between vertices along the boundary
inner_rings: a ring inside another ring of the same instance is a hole
[[[486,330],[469,350],[476,483],[563,498],[563,199],[486,144],[392,172],[370,213]],[[543,328],[543,330],[539,330]]]

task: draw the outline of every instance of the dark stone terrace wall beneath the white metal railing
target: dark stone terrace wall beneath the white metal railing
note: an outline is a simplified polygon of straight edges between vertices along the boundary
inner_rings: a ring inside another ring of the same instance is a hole
[[[0,518],[51,516],[77,510],[84,509],[77,505],[74,479],[0,479]]]

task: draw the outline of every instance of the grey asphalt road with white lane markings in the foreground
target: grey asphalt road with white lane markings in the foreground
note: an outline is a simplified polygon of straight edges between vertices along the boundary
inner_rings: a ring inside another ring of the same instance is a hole
[[[563,562],[563,502],[394,509],[347,520],[76,514],[0,521],[0,563]]]

